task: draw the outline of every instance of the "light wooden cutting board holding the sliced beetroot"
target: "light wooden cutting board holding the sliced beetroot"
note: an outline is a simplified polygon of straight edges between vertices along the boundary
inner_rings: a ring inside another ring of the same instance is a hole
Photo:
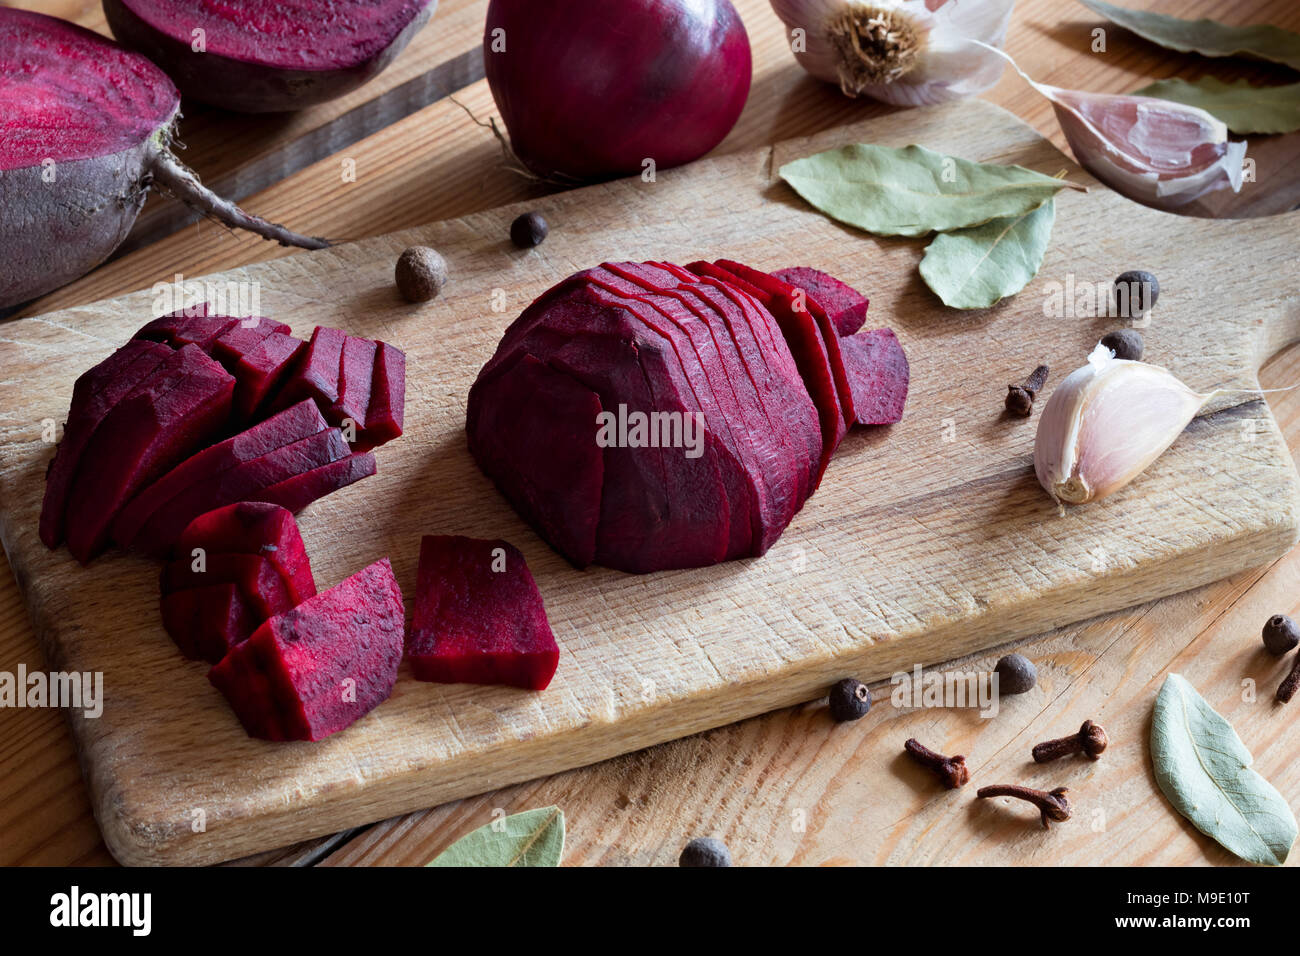
[[[1200,390],[1249,389],[1300,338],[1297,220],[1192,220],[1097,187],[1058,199],[1052,247],[1018,297],[944,308],[916,274],[923,241],[875,239],[810,211],[775,178],[849,142],[923,143],[1044,173],[1066,157],[985,103],[902,112],[811,140],[559,194],[532,204],[551,235],[515,250],[519,207],[278,259],[220,277],[260,284],[266,315],[338,325],[407,350],[407,434],[377,476],[302,516],[317,581],[389,555],[410,597],[424,533],[506,537],[528,557],[562,646],[550,688],[437,685],[406,669],[393,697],[317,744],[248,739],[205,666],[157,617],[157,566],[112,554],[82,568],[36,537],[73,380],[152,315],[140,291],[12,323],[0,336],[0,537],[51,670],[100,671],[104,713],[69,714],[96,817],[129,864],[243,856],[810,700],[846,674],[883,679],[1210,581],[1286,551],[1300,483],[1268,407],[1218,402],[1138,483],[1058,514],[1034,479],[1034,423],[1002,416],[1006,382],[1039,362],[1049,389],[1115,323],[1056,317],[1053,284],[1104,289],[1148,268],[1161,299],[1148,358]],[[451,281],[400,302],[393,263],[438,247]],[[907,349],[905,420],[858,429],[820,490],[755,561],[650,576],[575,571],[510,510],[465,451],[465,394],[538,293],[606,259],[731,256],[807,264],[871,297],[868,328]],[[170,276],[160,276],[169,281]]]

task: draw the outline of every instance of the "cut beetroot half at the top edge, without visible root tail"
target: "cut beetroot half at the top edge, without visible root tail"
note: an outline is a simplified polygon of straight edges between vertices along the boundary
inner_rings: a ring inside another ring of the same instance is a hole
[[[113,35],[186,96],[225,109],[302,109],[380,73],[437,0],[104,0]],[[203,30],[205,51],[194,49]]]

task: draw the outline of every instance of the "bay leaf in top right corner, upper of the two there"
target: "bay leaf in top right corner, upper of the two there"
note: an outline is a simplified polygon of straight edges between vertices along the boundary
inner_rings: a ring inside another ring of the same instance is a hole
[[[1112,23],[1132,30],[1144,40],[1167,49],[1201,56],[1244,56],[1286,64],[1300,70],[1300,34],[1258,23],[1227,26],[1214,20],[1179,20],[1162,13],[1131,10],[1102,0],[1079,0]]]

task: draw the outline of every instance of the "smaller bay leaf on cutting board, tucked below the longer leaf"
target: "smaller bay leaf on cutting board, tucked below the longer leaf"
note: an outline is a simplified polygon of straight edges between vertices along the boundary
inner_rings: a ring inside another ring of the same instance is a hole
[[[950,308],[988,308],[1037,274],[1054,221],[1048,199],[1020,216],[941,233],[926,247],[920,277]]]

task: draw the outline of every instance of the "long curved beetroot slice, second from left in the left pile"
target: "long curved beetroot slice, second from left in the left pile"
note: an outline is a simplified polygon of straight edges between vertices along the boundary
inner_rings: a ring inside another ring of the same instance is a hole
[[[108,544],[133,494],[230,418],[234,378],[192,345],[118,402],[86,445],[68,498],[68,550],[82,563]]]

